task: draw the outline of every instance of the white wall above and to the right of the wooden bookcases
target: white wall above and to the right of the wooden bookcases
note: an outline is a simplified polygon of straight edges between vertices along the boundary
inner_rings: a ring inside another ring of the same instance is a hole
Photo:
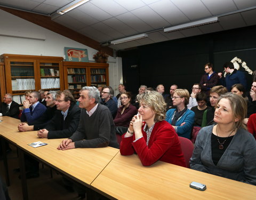
[[[34,23],[0,10],[0,54],[46,55],[65,58],[64,47],[87,49],[89,62],[94,62],[97,50]],[[118,92],[122,83],[122,59],[108,58],[109,84]]]

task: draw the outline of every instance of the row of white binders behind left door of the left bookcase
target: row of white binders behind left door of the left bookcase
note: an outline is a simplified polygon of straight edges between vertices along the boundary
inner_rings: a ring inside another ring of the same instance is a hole
[[[12,80],[12,90],[35,90],[34,78],[17,78]]]

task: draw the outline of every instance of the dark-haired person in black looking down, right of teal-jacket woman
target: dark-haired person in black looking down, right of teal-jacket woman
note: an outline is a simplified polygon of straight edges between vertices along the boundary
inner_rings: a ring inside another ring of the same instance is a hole
[[[206,105],[207,95],[204,92],[199,92],[196,101],[198,106],[191,108],[195,113],[194,126],[202,126],[204,111],[210,108]]]

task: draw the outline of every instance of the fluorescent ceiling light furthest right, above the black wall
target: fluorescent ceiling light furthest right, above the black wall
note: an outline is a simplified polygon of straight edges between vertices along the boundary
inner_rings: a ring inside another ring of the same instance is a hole
[[[207,25],[209,23],[215,23],[215,22],[218,22],[218,17],[208,18],[208,19],[203,19],[203,20],[198,20],[198,21],[193,21],[193,22],[189,22],[189,23],[183,23],[182,25],[165,28],[164,32],[168,33],[168,32],[183,30],[183,29],[187,29],[187,28],[203,26],[203,25]]]

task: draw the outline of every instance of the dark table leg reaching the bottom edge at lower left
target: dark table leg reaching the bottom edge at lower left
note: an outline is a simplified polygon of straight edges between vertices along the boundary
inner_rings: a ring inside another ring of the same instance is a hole
[[[21,179],[23,200],[28,200],[28,187],[27,187],[27,180],[26,180],[24,152],[20,148],[18,148],[18,154],[19,154],[20,179]]]

